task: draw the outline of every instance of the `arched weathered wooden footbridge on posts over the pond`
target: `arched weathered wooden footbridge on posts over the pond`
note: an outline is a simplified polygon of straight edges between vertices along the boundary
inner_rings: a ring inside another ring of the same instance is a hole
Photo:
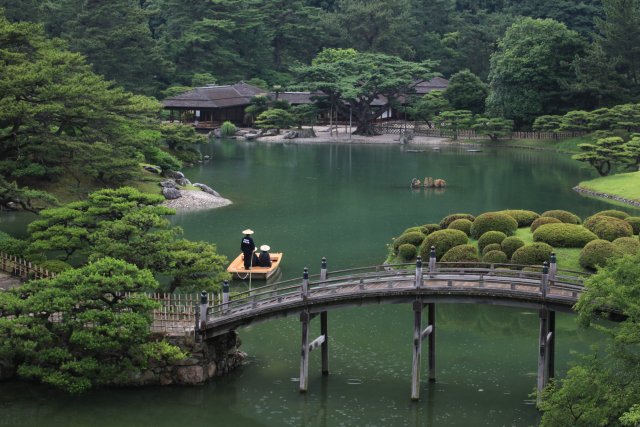
[[[553,376],[555,312],[571,311],[588,275],[557,269],[551,263],[538,267],[513,264],[436,263],[378,265],[331,272],[323,259],[319,275],[254,288],[229,297],[225,284],[222,302],[200,305],[199,333],[206,338],[244,325],[299,315],[302,324],[300,390],[308,387],[309,352],[321,347],[322,371],[328,374],[327,311],[341,307],[380,303],[411,303],[414,310],[412,399],[419,398],[422,340],[429,343],[429,380],[435,381],[435,305],[437,303],[500,304],[535,308],[540,313],[538,389]],[[422,312],[428,307],[428,326]],[[321,315],[321,335],[309,340],[309,322]]]

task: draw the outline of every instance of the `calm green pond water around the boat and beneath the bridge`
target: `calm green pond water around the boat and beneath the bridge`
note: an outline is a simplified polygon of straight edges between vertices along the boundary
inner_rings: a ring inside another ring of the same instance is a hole
[[[413,150],[417,150],[415,152]],[[571,190],[594,176],[568,156],[530,150],[216,142],[212,160],[184,170],[231,206],[180,213],[186,237],[215,242],[232,259],[241,230],[284,252],[282,278],[380,264],[386,245],[413,225],[456,213],[567,209],[582,217],[611,205]],[[443,178],[445,190],[410,190],[411,178]],[[632,212],[631,210],[629,210]],[[28,218],[4,216],[22,232]],[[257,282],[253,282],[255,286]],[[233,282],[232,289],[246,287]],[[314,321],[312,336],[319,334]],[[80,397],[20,382],[0,385],[0,426],[530,426],[538,412],[538,317],[521,308],[437,307],[437,382],[423,357],[421,400],[411,402],[409,304],[329,313],[330,375],[311,354],[309,392],[298,392],[297,317],[241,329],[246,366],[203,387],[97,390]],[[556,372],[600,337],[558,314]]]

